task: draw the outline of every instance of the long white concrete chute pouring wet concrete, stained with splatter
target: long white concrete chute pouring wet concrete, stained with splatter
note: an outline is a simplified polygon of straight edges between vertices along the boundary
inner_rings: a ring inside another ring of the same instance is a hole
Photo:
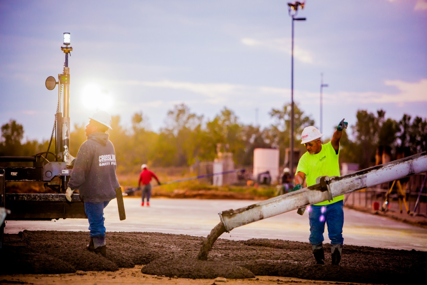
[[[320,183],[240,209],[219,212],[226,232],[333,197],[427,171],[427,153],[418,153],[343,176],[323,176]]]

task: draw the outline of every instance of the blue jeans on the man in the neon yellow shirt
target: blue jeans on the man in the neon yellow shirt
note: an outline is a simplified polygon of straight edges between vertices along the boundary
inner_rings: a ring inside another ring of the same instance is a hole
[[[310,220],[310,244],[320,244],[324,241],[325,223],[328,225],[328,235],[331,244],[343,244],[342,226],[344,225],[343,201],[318,206],[311,205],[308,213]]]

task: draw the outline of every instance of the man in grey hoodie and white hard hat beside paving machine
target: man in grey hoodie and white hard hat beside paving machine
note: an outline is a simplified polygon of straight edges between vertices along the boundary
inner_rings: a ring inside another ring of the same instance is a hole
[[[116,176],[114,146],[105,133],[111,129],[111,116],[101,110],[89,119],[86,126],[88,140],[80,146],[75,159],[70,155],[66,159],[67,165],[73,166],[73,171],[65,196],[71,202],[73,191],[79,189],[89,221],[87,249],[105,257],[104,208],[116,197],[114,189],[120,185]]]

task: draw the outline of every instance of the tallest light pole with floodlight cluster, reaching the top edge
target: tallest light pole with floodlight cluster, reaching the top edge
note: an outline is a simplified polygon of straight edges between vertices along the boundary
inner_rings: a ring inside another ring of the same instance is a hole
[[[291,176],[294,175],[293,156],[294,156],[294,108],[293,108],[293,38],[294,38],[294,21],[305,21],[305,18],[295,18],[298,14],[298,8],[304,9],[304,2],[295,1],[288,3],[288,13],[292,18],[292,59],[291,59],[291,133],[290,133],[290,154],[289,154],[289,169]]]

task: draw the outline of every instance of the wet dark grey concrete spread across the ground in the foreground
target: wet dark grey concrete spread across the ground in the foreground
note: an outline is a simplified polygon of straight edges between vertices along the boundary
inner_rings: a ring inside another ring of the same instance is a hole
[[[114,271],[146,264],[146,274],[184,278],[298,277],[360,283],[408,283],[427,273],[427,252],[345,245],[340,266],[317,265],[310,244],[270,239],[218,239],[206,261],[197,259],[203,237],[151,232],[108,232],[107,258],[85,250],[87,232],[23,231],[5,235],[1,274]]]

